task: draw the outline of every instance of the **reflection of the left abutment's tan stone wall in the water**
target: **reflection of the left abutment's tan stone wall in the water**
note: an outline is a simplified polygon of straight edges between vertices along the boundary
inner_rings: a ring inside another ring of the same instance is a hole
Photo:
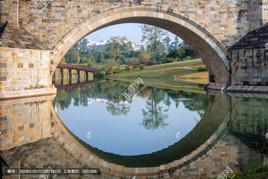
[[[50,98],[1,101],[0,151],[51,137]]]

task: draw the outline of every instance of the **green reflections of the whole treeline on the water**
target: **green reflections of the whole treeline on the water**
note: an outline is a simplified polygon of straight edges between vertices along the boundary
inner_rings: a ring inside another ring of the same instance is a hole
[[[60,108],[63,110],[70,106],[72,99],[74,100],[74,106],[88,106],[87,98],[89,96],[93,98],[105,97],[108,100],[106,108],[112,115],[127,115],[130,111],[129,104],[133,102],[133,99],[124,98],[122,93],[131,84],[132,83],[124,81],[107,79],[101,84],[90,85],[88,87],[75,88],[70,91],[58,90],[57,96],[52,103],[53,106],[55,106],[56,102],[60,103]],[[139,85],[138,90],[141,89],[142,86]],[[197,111],[200,117],[202,117],[208,107],[207,95],[189,91],[165,90],[146,86],[139,92],[138,96],[147,98],[147,110],[143,110],[142,125],[144,125],[145,128],[149,127],[149,129],[165,126],[164,120],[167,116],[163,115],[163,107],[160,107],[160,104],[162,106],[165,104],[167,107],[171,105],[178,107],[179,103],[183,102],[187,109]],[[189,98],[191,100],[187,100]],[[172,103],[173,101],[174,104]]]

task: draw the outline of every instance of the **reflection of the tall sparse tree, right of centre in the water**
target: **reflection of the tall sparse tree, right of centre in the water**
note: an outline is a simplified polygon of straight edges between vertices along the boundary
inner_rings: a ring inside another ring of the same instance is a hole
[[[152,95],[149,96],[148,100],[146,101],[147,111],[142,109],[142,124],[146,129],[158,129],[159,127],[165,128],[168,123],[165,120],[168,118],[168,115],[163,114],[169,110],[165,109],[162,110],[159,104],[160,101],[163,101],[163,93],[161,94],[162,90],[159,91],[160,95],[156,95],[156,90],[152,89]]]

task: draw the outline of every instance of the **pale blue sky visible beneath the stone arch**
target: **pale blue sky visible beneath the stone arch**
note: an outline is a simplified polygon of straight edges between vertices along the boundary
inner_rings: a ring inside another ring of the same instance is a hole
[[[127,23],[127,24],[116,24],[109,27],[105,27],[103,29],[97,30],[94,33],[89,34],[85,38],[92,41],[100,41],[100,40],[109,40],[112,36],[126,36],[128,40],[135,41],[137,44],[145,44],[146,42],[141,42],[141,26],[143,24],[138,23]],[[169,38],[172,43],[175,41],[175,35],[173,33],[168,32]],[[179,41],[182,42],[182,39],[179,38]]]

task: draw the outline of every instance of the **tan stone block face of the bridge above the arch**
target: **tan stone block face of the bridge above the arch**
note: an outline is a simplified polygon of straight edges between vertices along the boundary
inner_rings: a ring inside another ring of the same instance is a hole
[[[268,21],[263,18],[266,17],[266,1],[145,0],[144,4],[191,16],[212,30],[227,47],[231,47],[249,29]],[[130,0],[50,0],[40,8],[41,2],[1,1],[1,22],[9,20],[20,24],[51,49],[82,21],[113,8],[132,5]],[[135,4],[141,4],[140,0]]]

